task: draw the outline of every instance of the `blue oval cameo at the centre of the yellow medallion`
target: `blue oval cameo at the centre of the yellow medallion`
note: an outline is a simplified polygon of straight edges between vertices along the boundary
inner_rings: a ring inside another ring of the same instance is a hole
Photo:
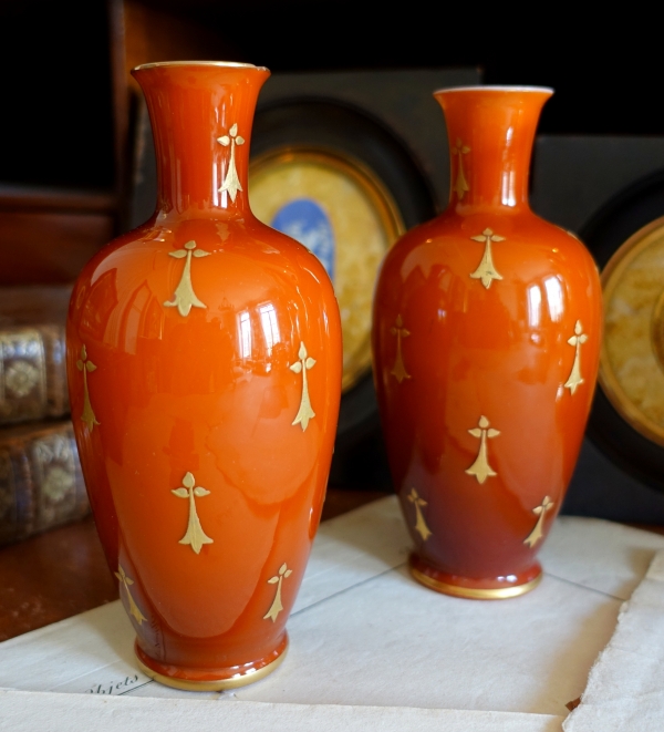
[[[277,212],[271,226],[303,244],[334,281],[334,234],[325,212],[314,200],[289,202]]]

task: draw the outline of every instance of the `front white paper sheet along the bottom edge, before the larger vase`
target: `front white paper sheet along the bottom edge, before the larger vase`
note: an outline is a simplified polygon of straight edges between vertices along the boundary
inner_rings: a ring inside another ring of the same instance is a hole
[[[562,718],[397,707],[263,704],[0,690],[8,732],[560,732]]]

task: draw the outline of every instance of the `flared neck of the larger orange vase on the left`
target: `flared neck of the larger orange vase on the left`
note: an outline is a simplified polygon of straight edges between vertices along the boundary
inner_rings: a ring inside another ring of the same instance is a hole
[[[157,210],[249,213],[249,141],[267,69],[181,62],[138,66],[157,157]]]

